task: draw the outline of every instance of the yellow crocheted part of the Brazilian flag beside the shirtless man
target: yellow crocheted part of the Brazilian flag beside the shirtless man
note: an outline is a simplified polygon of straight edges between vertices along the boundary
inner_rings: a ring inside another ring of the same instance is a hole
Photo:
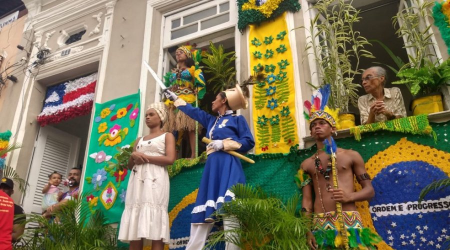
[[[433,155],[433,157],[429,157]],[[450,176],[450,153],[431,148],[429,146],[416,144],[414,142],[406,140],[406,138],[401,138],[394,145],[389,146],[383,151],[378,152],[373,155],[365,163],[365,168],[367,173],[374,177],[383,168],[393,163],[408,160],[422,160],[433,166],[439,166],[442,171],[444,171],[448,176]],[[355,191],[361,190],[361,185],[354,179]],[[364,227],[370,228],[372,231],[376,232],[373,226],[372,217],[369,211],[368,201],[358,201],[356,202],[356,208],[361,215],[362,223]],[[381,241],[376,244],[378,249],[388,249],[392,250],[386,242]]]

